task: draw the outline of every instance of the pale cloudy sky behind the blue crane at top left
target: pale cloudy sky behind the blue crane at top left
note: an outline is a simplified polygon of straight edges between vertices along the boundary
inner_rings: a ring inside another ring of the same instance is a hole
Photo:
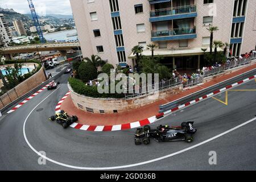
[[[39,15],[62,14],[72,15],[69,0],[32,0],[36,13]],[[27,0],[0,0],[3,9],[14,9],[21,14],[30,13]]]

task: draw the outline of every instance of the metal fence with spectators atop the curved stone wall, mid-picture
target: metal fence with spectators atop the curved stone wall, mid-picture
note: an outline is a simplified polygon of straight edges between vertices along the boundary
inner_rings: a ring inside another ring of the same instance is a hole
[[[183,85],[183,88],[188,88],[203,82],[203,76],[197,76],[191,79],[183,79],[183,78],[173,78],[171,80],[166,80],[162,82],[158,82],[156,84],[151,84],[147,86],[142,86],[134,89],[125,89],[125,98],[135,98],[141,96],[147,96],[150,94],[155,94],[163,90],[167,90],[170,88],[175,88],[176,86]]]

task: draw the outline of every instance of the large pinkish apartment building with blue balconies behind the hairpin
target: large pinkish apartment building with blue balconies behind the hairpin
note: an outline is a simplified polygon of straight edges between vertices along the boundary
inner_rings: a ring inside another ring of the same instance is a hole
[[[256,0],[70,0],[81,49],[113,65],[135,65],[134,46],[176,69],[200,67],[201,48],[214,40],[230,44],[230,56],[255,49]],[[221,51],[219,49],[219,51]]]

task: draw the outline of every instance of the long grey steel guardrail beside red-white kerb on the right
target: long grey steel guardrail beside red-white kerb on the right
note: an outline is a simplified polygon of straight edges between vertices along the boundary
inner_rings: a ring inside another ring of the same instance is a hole
[[[232,85],[232,84],[234,84],[238,81],[244,80],[245,78],[249,78],[250,76],[254,76],[254,75],[256,75],[256,69],[254,69],[253,71],[243,73],[242,75],[239,75],[237,77],[230,78],[229,80],[220,82],[216,85],[211,86],[210,88],[206,88],[206,89],[201,90],[199,92],[193,93],[193,94],[191,94],[187,97],[184,97],[184,98],[181,98],[179,100],[176,100],[176,101],[170,102],[168,104],[162,105],[162,106],[159,107],[159,113],[164,113],[165,111],[174,109],[175,107],[186,104],[187,102],[195,100],[196,98],[203,97],[203,96],[205,96],[209,93],[212,93],[212,92],[214,92],[218,89],[225,88],[228,85]]]

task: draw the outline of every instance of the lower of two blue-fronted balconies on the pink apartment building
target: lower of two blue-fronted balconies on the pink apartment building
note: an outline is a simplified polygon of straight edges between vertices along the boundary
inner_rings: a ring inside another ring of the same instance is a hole
[[[170,30],[159,30],[151,32],[151,41],[166,41],[166,40],[181,40],[181,39],[195,39],[196,27],[188,28],[174,28]]]

